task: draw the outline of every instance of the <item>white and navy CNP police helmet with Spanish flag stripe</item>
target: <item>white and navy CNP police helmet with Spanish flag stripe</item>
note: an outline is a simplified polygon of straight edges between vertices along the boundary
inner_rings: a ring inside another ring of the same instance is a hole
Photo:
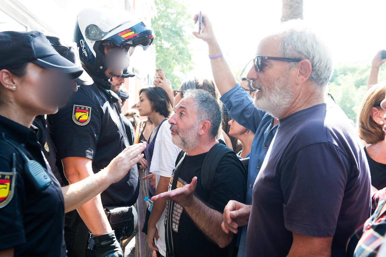
[[[78,14],[75,24],[74,41],[79,47],[81,63],[88,72],[103,79],[107,78],[105,47],[124,47],[131,55],[136,46],[146,50],[153,39],[151,29],[133,14],[122,10],[85,9]]]

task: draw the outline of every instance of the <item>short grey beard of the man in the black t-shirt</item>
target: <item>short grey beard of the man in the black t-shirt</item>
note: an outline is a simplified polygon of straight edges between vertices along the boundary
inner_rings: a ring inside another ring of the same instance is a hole
[[[177,134],[171,136],[171,141],[173,144],[177,145],[185,152],[196,149],[200,144],[197,132],[198,124],[199,122],[185,130],[179,130],[176,126],[171,125],[171,128],[177,132]]]

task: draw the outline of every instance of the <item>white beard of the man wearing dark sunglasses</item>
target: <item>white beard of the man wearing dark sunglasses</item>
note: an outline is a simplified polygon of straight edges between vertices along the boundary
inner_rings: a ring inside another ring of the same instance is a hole
[[[262,95],[260,97],[258,97],[256,93],[253,102],[254,105],[258,109],[266,111],[272,117],[281,117],[286,110],[288,110],[293,101],[294,92],[288,84],[289,81],[289,76],[284,75],[276,79],[269,89],[264,87],[261,83],[254,81],[254,84],[258,84],[253,85],[253,87],[261,88],[262,90]]]

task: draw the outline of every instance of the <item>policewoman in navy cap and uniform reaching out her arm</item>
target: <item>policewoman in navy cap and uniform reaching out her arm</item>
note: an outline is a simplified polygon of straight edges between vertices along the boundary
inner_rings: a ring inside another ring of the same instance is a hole
[[[122,179],[145,146],[128,147],[95,176],[60,188],[31,123],[58,111],[83,69],[36,31],[0,32],[0,60],[0,255],[65,256],[64,212]]]

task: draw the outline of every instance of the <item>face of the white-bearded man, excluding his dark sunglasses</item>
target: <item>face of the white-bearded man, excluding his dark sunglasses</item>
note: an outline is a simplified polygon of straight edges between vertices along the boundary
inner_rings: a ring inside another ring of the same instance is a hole
[[[280,56],[279,43],[277,39],[263,39],[259,44],[257,54]],[[247,75],[247,78],[252,80],[252,87],[257,90],[254,105],[273,117],[280,118],[291,106],[295,95],[289,73],[290,64],[272,60],[264,60],[264,64],[264,68],[259,72],[252,66]]]

